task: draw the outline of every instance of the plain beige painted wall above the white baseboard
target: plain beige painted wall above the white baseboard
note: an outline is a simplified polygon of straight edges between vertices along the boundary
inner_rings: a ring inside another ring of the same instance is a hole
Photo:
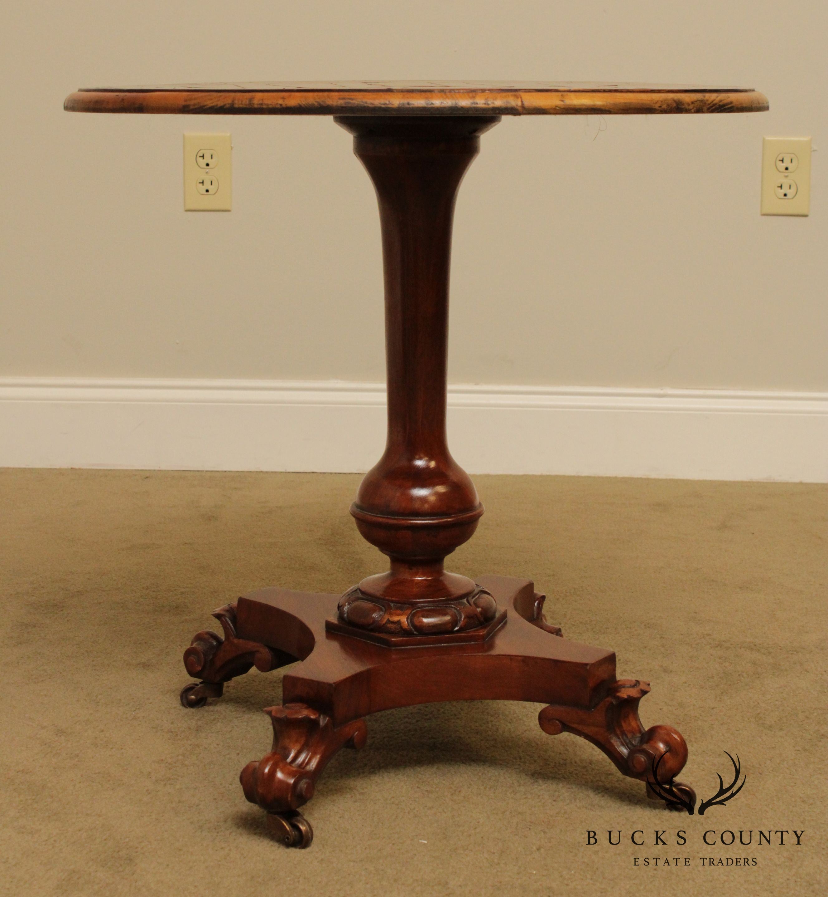
[[[455,222],[454,382],[828,389],[828,219],[761,218],[763,135],[828,112],[790,0],[42,0],[2,26],[0,375],[384,377],[373,189],[328,118],[69,115],[82,85],[561,79],[753,85],[764,115],[505,118]],[[792,25],[795,22],[796,25]],[[233,134],[232,213],[181,135]]]

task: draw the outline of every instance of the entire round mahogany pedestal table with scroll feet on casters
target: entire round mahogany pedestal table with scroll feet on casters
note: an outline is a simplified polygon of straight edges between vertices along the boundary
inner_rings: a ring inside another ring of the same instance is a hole
[[[239,83],[76,91],[73,112],[192,115],[332,115],[354,135],[374,181],[383,233],[388,440],[359,486],[351,514],[391,560],[344,595],[262,588],[215,611],[223,639],[199,632],[185,650],[198,684],[185,707],[219,697],[252,666],[301,661],[266,712],[273,745],[241,773],[248,800],[272,831],[307,847],[299,807],[342,746],[361,747],[364,718],[429,701],[547,704],[539,722],[597,745],[649,797],[692,811],[675,780],[687,759],[676,729],[644,730],[638,702],[649,684],[616,678],[612,651],[580,645],[547,623],[529,579],[444,570],[483,508],[445,436],[449,255],[454,198],[479,135],[509,115],[760,112],[757,91],[599,83]]]

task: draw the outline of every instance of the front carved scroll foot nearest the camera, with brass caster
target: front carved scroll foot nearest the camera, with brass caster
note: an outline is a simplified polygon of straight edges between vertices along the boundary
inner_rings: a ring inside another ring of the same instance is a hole
[[[289,847],[307,847],[313,830],[297,810],[314,796],[316,779],[334,753],[365,745],[365,721],[355,719],[336,728],[330,717],[306,704],[264,712],[273,726],[271,753],[248,763],[239,779],[247,800],[268,811],[268,824],[278,840]]]

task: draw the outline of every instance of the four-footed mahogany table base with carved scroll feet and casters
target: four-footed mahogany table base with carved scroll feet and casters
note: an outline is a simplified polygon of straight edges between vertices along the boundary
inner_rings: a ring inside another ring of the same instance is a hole
[[[476,580],[495,598],[505,622],[486,640],[389,648],[332,631],[336,595],[263,588],[214,616],[224,628],[199,632],[185,652],[182,702],[202,706],[223,684],[251,666],[266,671],[304,661],[282,680],[283,704],[271,717],[273,745],[241,773],[246,798],[263,807],[271,829],[289,846],[307,847],[313,832],[298,813],[314,794],[325,764],[341,747],[362,747],[364,718],[379,710],[435,701],[533,701],[545,732],[572,732],[598,746],[619,771],[647,783],[647,794],[668,806],[692,808],[692,788],[675,782],[687,747],[676,729],[646,731],[638,702],[647,683],[616,679],[612,651],[561,636],[543,616],[544,596],[528,579]]]

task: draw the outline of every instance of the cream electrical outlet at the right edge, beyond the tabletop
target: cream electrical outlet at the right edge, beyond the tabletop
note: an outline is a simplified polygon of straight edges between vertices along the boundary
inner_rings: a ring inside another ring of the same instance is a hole
[[[811,138],[765,137],[762,214],[806,215],[811,205]]]

